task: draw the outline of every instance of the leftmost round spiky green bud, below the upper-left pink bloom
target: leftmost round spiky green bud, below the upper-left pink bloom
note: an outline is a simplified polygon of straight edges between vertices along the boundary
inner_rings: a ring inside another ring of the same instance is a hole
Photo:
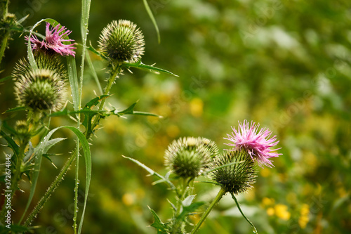
[[[18,104],[34,111],[59,110],[65,103],[65,93],[64,80],[51,70],[34,70],[15,81]]]

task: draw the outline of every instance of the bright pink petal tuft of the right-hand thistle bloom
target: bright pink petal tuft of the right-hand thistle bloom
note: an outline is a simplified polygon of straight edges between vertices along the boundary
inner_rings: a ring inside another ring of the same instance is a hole
[[[270,138],[272,131],[263,128],[258,131],[260,124],[255,124],[255,122],[249,122],[245,119],[241,124],[239,122],[238,130],[232,126],[232,135],[227,134],[228,138],[226,140],[232,141],[233,143],[226,143],[225,145],[230,145],[234,147],[234,150],[239,150],[241,148],[246,149],[249,152],[252,160],[257,160],[258,164],[261,166],[265,164],[267,167],[274,167],[272,162],[268,160],[270,157],[278,157],[279,154],[276,152],[278,149],[271,149],[271,147],[277,145],[276,136]]]

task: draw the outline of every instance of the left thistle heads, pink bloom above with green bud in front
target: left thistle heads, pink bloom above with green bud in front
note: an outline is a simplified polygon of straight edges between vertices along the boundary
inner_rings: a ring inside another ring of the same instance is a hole
[[[65,103],[67,72],[61,56],[74,56],[74,44],[65,44],[72,39],[64,39],[71,31],[46,23],[46,37],[40,41],[35,35],[29,39],[37,64],[33,69],[29,62],[20,59],[15,65],[15,96],[18,105],[34,112],[57,111]]]

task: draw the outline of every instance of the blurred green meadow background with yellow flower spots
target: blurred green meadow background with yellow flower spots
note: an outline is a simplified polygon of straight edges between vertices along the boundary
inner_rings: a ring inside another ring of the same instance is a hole
[[[29,13],[25,26],[54,18],[73,31],[69,37],[81,43],[80,4],[11,1],[9,11],[18,17]],[[161,44],[143,1],[91,3],[88,40],[93,46],[97,47],[107,23],[131,20],[145,34],[143,63],[157,63],[179,77],[133,70],[133,74],[125,71],[114,84],[109,99],[113,106],[122,110],[138,100],[135,110],[164,118],[109,117],[102,122],[104,128],[91,146],[93,176],[83,233],[156,233],[149,227],[153,218],[148,206],[166,221],[171,217],[166,198],[173,200],[173,193],[164,184],[152,186],[155,178],[121,155],[165,174],[164,150],[173,139],[204,136],[223,149],[223,137],[244,119],[271,129],[283,154],[274,159],[274,168],[258,168],[254,188],[238,197],[258,233],[351,232],[350,1],[150,0],[149,4]],[[44,34],[44,25],[37,30]],[[18,59],[26,56],[23,37],[15,34],[9,44],[1,77],[11,74]],[[78,64],[80,55],[78,48]],[[106,64],[91,57],[105,86]],[[94,90],[98,92],[87,67],[84,102],[95,97]],[[15,107],[13,81],[1,84],[0,93],[1,113]],[[18,118],[1,115],[10,124]],[[62,124],[75,126],[68,117],[52,119],[53,127]],[[67,149],[74,148],[69,131],[55,136],[69,139],[51,150],[62,153],[53,157],[58,169],[48,160],[43,162],[33,204],[58,174]],[[4,152],[9,151],[1,147]],[[80,169],[84,178],[83,162]],[[72,233],[73,188],[71,169],[34,221],[34,226],[40,226],[36,233]],[[218,191],[205,183],[196,188],[197,200],[206,202]],[[22,183],[22,189],[26,193],[18,193],[13,220],[22,214],[28,183]],[[192,221],[198,219],[194,216]],[[199,233],[252,230],[231,198],[225,197]]]

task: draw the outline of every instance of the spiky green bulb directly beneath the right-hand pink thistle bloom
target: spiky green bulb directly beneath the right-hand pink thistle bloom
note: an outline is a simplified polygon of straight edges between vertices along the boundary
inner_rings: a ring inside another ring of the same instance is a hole
[[[213,179],[234,195],[245,192],[256,182],[254,162],[246,150],[226,151],[214,159],[213,169]]]

